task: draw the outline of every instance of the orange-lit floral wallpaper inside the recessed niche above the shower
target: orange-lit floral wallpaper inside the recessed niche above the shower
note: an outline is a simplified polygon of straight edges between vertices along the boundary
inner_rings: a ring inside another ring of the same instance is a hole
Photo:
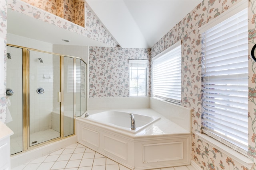
[[[78,0],[22,0],[84,27],[84,2]]]

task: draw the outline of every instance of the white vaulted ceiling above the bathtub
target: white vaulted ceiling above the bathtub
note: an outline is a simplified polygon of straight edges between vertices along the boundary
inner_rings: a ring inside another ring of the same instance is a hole
[[[151,48],[202,0],[86,0],[123,48]]]

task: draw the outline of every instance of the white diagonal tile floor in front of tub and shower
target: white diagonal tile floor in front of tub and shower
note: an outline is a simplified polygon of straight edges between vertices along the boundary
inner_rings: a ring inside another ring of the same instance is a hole
[[[12,170],[130,170],[109,158],[75,143],[42,156]],[[195,170],[192,166],[178,166],[155,170]]]

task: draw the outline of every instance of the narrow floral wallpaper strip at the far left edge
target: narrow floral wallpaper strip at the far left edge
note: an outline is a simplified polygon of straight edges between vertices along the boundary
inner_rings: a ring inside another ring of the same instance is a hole
[[[0,54],[0,61],[4,61],[4,64],[0,64],[0,72],[4,72],[4,77],[0,80],[4,80],[1,86],[6,89],[6,34],[7,34],[7,8],[6,8],[6,0],[0,1],[0,50],[4,53]],[[2,60],[3,59],[3,60]],[[4,90],[5,91],[5,90]],[[6,93],[0,92],[0,121],[5,123],[6,121]]]

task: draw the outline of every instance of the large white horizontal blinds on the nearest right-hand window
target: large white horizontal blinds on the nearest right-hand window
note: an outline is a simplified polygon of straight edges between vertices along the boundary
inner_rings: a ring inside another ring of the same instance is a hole
[[[202,34],[203,132],[248,150],[247,9]]]

